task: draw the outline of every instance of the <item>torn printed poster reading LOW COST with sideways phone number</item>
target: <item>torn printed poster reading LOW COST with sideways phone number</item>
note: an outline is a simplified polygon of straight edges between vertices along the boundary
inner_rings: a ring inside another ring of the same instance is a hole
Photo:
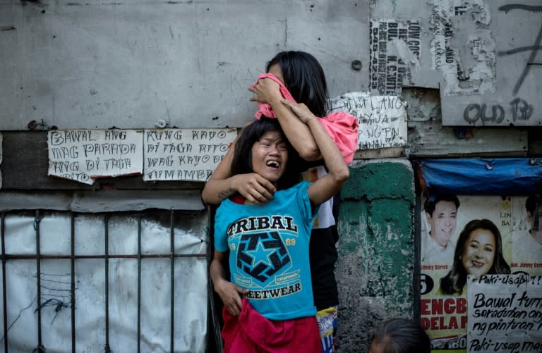
[[[371,20],[369,77],[371,93],[400,94],[414,85],[412,70],[420,66],[420,22]]]

